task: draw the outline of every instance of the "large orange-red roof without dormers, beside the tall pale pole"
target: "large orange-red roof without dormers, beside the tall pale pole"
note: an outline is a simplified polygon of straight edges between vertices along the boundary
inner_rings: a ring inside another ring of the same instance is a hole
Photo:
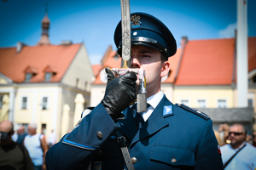
[[[235,39],[189,41],[175,85],[232,83]]]

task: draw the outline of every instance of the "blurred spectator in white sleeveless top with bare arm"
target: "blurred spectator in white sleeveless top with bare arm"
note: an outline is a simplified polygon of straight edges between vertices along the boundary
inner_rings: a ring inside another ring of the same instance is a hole
[[[46,169],[45,167],[45,155],[48,150],[48,146],[44,139],[44,135],[37,133],[37,124],[31,123],[28,125],[28,135],[24,139],[24,145],[32,158],[33,166],[35,170]]]

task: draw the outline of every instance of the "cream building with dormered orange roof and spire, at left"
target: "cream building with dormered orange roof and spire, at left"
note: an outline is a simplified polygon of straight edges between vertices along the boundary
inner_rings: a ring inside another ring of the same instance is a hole
[[[37,45],[0,48],[0,122],[36,122],[38,133],[60,138],[90,105],[93,71],[84,43],[49,42],[49,23],[45,14]]]

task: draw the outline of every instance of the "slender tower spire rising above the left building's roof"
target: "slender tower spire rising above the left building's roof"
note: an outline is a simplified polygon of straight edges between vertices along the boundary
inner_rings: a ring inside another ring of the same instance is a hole
[[[41,21],[42,23],[42,36],[38,45],[49,45],[49,18],[48,18],[48,4],[45,4],[45,15],[44,19]]]

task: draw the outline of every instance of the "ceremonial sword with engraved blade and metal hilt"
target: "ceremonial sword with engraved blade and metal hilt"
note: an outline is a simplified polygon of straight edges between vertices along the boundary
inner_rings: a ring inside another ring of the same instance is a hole
[[[121,69],[113,68],[113,72],[118,75],[124,75],[127,72],[134,72],[137,74],[139,80],[139,88],[137,91],[137,112],[142,113],[147,111],[147,90],[146,90],[146,73],[143,68],[131,69],[131,13],[130,1],[121,1],[122,14],[122,61]]]

